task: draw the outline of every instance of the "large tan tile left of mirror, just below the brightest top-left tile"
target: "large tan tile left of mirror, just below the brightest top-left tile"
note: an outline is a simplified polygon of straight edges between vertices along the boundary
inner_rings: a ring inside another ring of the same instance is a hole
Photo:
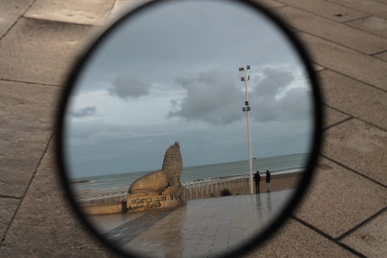
[[[95,29],[21,18],[0,41],[0,78],[61,85]]]

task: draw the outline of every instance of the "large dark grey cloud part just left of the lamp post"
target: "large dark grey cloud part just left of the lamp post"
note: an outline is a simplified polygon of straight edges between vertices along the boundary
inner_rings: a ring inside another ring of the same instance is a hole
[[[169,117],[187,121],[204,121],[225,125],[241,119],[243,91],[236,88],[234,79],[219,70],[199,73],[195,79],[178,78],[176,83],[186,91],[180,100],[172,100],[174,110]]]

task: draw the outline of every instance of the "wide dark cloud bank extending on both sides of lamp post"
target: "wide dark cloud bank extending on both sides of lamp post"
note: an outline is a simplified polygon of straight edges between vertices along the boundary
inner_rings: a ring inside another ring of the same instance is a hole
[[[265,68],[261,79],[255,78],[259,82],[249,84],[252,118],[259,122],[308,118],[311,97],[308,89],[298,87],[286,91],[294,79],[290,70]],[[216,125],[227,125],[243,118],[244,86],[236,85],[226,73],[210,70],[199,73],[194,79],[178,78],[176,83],[187,93],[181,100],[172,100],[169,117]],[[278,98],[281,94],[284,96]]]

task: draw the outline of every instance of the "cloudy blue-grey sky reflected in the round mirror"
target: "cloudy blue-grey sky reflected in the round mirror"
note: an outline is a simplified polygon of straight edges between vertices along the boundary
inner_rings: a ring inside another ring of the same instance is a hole
[[[268,17],[232,1],[167,1],[122,22],[80,70],[65,116],[70,177],[307,153],[312,87],[301,58]]]

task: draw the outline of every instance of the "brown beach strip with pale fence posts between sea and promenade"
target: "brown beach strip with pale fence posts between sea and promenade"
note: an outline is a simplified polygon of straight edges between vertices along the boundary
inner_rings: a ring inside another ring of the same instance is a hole
[[[296,188],[302,173],[289,173],[280,175],[271,175],[271,191]],[[74,197],[79,204],[109,204],[114,202],[126,201],[129,186],[121,186],[116,188],[105,188],[98,190],[74,190]],[[186,197],[190,199],[201,199],[208,197],[219,197],[222,189],[231,190],[232,195],[249,195],[250,183],[248,178],[233,179],[229,177],[223,182],[217,183],[207,182],[206,185],[202,181],[195,181],[193,184],[185,185],[187,188]],[[265,176],[261,176],[260,192],[266,192]],[[253,183],[253,192],[255,193],[255,183]]]

